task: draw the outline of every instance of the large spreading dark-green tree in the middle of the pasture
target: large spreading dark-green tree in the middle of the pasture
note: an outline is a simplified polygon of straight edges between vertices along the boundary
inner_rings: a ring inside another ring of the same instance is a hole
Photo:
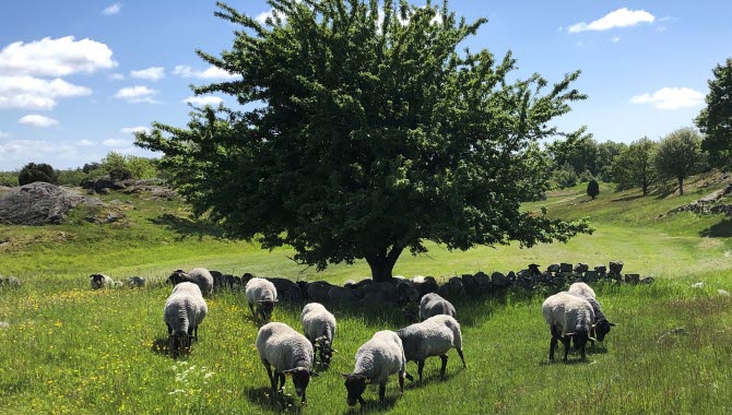
[[[534,74],[516,79],[510,54],[459,51],[485,23],[405,2],[272,0],[265,24],[219,3],[240,26],[206,62],[240,79],[194,87],[243,107],[205,107],[187,128],[154,123],[137,137],[197,214],[298,262],[365,259],[376,281],[399,256],[566,241],[590,232],[521,211],[547,189],[535,143],[585,95]],[[569,139],[579,132],[564,134]],[[527,194],[529,193],[529,194]]]

